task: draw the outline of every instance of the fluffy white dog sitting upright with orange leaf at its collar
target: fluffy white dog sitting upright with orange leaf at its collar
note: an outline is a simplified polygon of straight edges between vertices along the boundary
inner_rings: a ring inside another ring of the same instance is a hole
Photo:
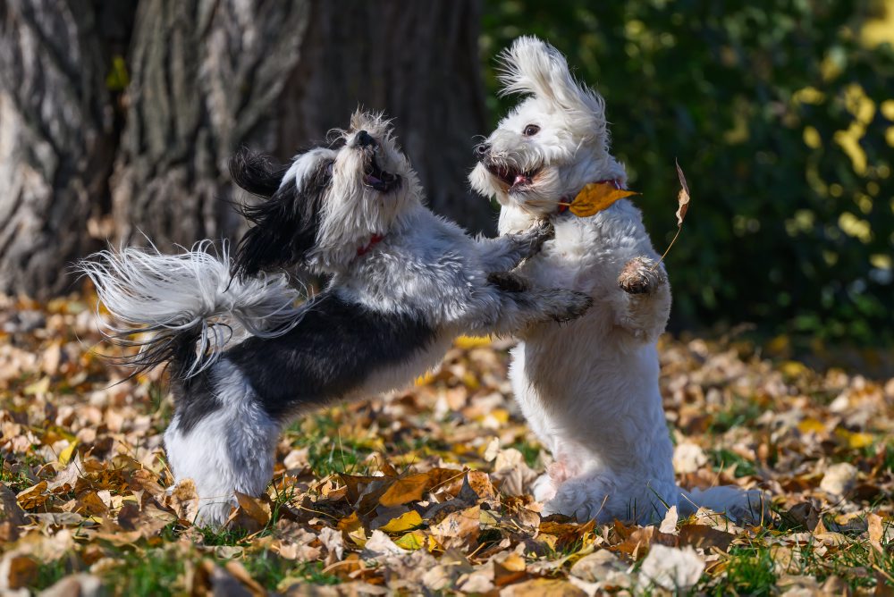
[[[554,464],[535,484],[544,513],[578,520],[650,522],[697,506],[731,517],[761,511],[761,494],[718,487],[683,492],[658,387],[655,342],[671,310],[671,287],[637,207],[621,199],[591,217],[568,204],[590,182],[626,188],[609,153],[604,102],[536,38],[502,55],[503,93],[526,96],[475,148],[472,187],[502,205],[500,232],[551,217],[555,240],[521,268],[542,286],[586,292],[594,307],[568,325],[519,334],[510,377],[527,421]]]

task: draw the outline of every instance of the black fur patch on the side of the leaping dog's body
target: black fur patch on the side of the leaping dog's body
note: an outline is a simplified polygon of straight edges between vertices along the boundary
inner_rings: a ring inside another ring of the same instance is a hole
[[[420,317],[378,314],[324,292],[291,332],[249,338],[225,358],[248,378],[266,412],[282,417],[341,399],[433,340]]]

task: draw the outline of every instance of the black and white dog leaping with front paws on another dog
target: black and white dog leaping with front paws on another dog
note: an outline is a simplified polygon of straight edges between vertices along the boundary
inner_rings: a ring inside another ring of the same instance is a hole
[[[232,160],[234,180],[263,198],[244,208],[254,226],[232,261],[199,246],[105,251],[80,265],[122,322],[112,335],[142,347],[126,363],[171,364],[164,444],[176,481],[196,483],[199,524],[223,523],[233,492],[265,490],[283,424],[302,409],[400,388],[460,333],[518,332],[592,302],[508,273],[548,224],[471,239],[427,210],[381,115],[354,114],[340,140],[288,168]],[[297,265],[332,276],[302,305],[284,273],[266,273]]]

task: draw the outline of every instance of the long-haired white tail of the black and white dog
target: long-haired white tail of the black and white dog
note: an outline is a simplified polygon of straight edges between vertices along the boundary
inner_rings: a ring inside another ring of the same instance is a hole
[[[299,323],[303,295],[284,273],[232,277],[226,243],[220,256],[208,248],[214,248],[208,240],[180,255],[128,247],[100,251],[77,265],[119,322],[110,324],[97,312],[106,337],[139,346],[137,354],[119,359],[122,364],[139,372],[173,360],[177,374],[188,378],[212,366],[234,341],[280,336]]]

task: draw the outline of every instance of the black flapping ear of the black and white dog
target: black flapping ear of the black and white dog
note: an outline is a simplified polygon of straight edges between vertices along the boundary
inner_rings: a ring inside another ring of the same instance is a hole
[[[325,190],[332,176],[323,161],[303,181],[299,192],[295,181],[286,181],[273,195],[254,205],[241,206],[241,213],[254,225],[239,241],[232,274],[242,278],[263,270],[299,265],[316,243]]]

